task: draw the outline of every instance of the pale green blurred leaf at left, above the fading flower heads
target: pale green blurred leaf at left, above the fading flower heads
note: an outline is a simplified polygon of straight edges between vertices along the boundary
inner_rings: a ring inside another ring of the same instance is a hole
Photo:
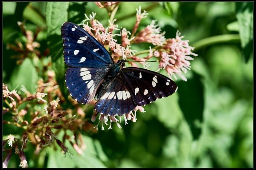
[[[35,93],[38,81],[38,73],[31,59],[26,58],[23,63],[16,67],[10,78],[10,88],[14,89],[17,85],[24,85],[30,93]]]

